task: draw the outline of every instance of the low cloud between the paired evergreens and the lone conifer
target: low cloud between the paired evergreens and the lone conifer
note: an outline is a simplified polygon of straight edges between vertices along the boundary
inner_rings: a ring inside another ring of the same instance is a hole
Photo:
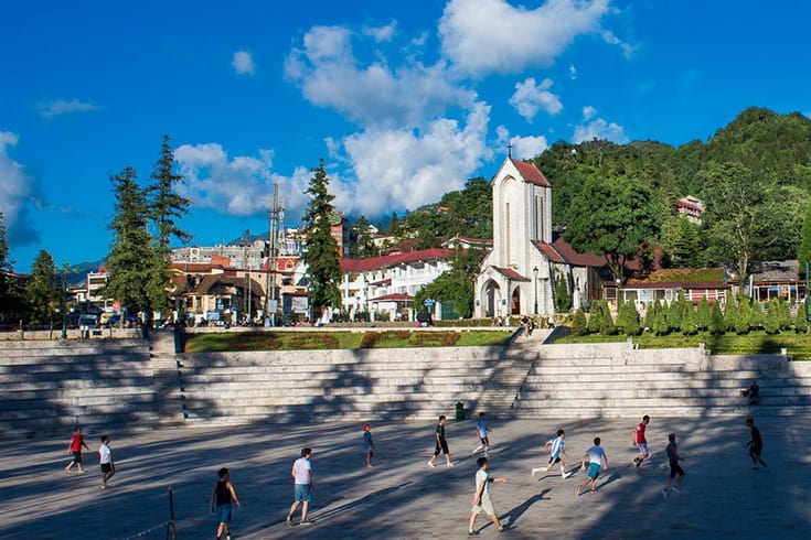
[[[276,183],[294,212],[306,205],[309,170],[299,166],[290,176],[274,173],[269,150],[259,150],[258,156],[228,158],[217,143],[183,144],[174,151],[174,159],[185,176],[178,191],[194,206],[235,216],[263,214],[273,206]]]

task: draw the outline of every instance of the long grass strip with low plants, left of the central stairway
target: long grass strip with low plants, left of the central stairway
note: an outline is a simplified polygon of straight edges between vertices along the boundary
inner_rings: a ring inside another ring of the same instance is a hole
[[[329,348],[482,347],[504,345],[511,331],[495,332],[222,332],[188,334],[185,353]]]

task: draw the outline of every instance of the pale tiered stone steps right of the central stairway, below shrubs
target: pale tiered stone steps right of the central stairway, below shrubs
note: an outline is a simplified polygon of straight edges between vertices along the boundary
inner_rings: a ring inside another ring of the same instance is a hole
[[[811,365],[780,355],[712,356],[632,344],[544,345],[519,418],[782,415],[811,412]],[[740,397],[753,379],[761,402]]]

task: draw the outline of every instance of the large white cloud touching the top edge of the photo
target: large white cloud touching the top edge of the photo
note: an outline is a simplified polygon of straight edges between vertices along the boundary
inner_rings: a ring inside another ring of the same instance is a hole
[[[609,0],[547,0],[532,10],[505,0],[450,0],[439,35],[463,73],[517,73],[552,65],[575,37],[600,32],[609,11]]]

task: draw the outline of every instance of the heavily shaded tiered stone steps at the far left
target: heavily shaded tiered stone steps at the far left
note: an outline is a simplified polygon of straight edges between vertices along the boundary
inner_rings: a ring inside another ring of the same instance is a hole
[[[0,429],[151,425],[157,419],[143,339],[0,342]]]

